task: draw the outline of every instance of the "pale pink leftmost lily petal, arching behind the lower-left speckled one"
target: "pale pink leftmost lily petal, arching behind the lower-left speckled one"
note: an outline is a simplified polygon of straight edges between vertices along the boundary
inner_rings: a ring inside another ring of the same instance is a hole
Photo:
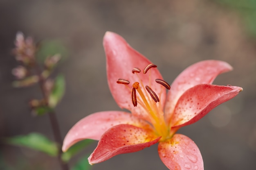
[[[62,150],[83,139],[99,140],[101,135],[117,124],[132,124],[150,129],[147,122],[140,120],[124,111],[102,111],[93,113],[77,122],[67,133],[63,141]]]

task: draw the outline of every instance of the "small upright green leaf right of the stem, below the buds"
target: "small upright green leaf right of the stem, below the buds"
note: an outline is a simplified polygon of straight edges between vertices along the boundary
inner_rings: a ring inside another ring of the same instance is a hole
[[[49,107],[56,107],[65,93],[65,78],[63,75],[58,75],[55,78],[54,87],[49,96]]]

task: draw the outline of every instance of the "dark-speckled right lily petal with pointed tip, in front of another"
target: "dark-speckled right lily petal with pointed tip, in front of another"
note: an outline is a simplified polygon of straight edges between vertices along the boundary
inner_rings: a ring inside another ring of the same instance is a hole
[[[214,107],[234,98],[243,89],[236,86],[201,84],[188,89],[178,100],[172,119],[172,127],[192,124]]]

